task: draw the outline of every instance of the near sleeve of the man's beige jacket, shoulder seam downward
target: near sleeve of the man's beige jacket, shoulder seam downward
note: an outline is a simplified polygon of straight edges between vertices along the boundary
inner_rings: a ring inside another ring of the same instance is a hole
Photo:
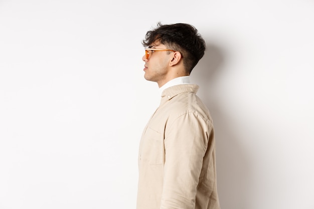
[[[187,112],[165,130],[165,167],[161,209],[194,209],[197,186],[212,124]]]

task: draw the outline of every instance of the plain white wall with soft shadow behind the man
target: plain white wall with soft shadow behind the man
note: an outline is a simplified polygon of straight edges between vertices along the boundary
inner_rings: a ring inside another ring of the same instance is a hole
[[[314,2],[0,1],[0,208],[135,208],[147,30],[190,23],[222,209],[314,208]]]

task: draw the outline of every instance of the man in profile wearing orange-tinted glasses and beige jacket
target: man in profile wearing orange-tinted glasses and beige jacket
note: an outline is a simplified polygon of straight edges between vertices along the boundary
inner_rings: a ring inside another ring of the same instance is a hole
[[[137,209],[220,208],[213,122],[189,81],[205,41],[191,25],[159,23],[142,44],[144,78],[162,99],[139,145]]]

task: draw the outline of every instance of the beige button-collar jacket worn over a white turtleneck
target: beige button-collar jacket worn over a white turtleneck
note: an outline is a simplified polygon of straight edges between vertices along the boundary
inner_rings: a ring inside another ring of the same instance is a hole
[[[137,209],[219,209],[215,138],[197,85],[164,90],[144,128]]]

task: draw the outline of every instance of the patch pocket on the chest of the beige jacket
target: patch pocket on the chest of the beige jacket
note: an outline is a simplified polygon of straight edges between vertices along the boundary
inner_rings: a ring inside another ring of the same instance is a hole
[[[165,146],[163,134],[151,128],[147,128],[143,136],[141,158],[150,165],[160,165],[165,161]]]

